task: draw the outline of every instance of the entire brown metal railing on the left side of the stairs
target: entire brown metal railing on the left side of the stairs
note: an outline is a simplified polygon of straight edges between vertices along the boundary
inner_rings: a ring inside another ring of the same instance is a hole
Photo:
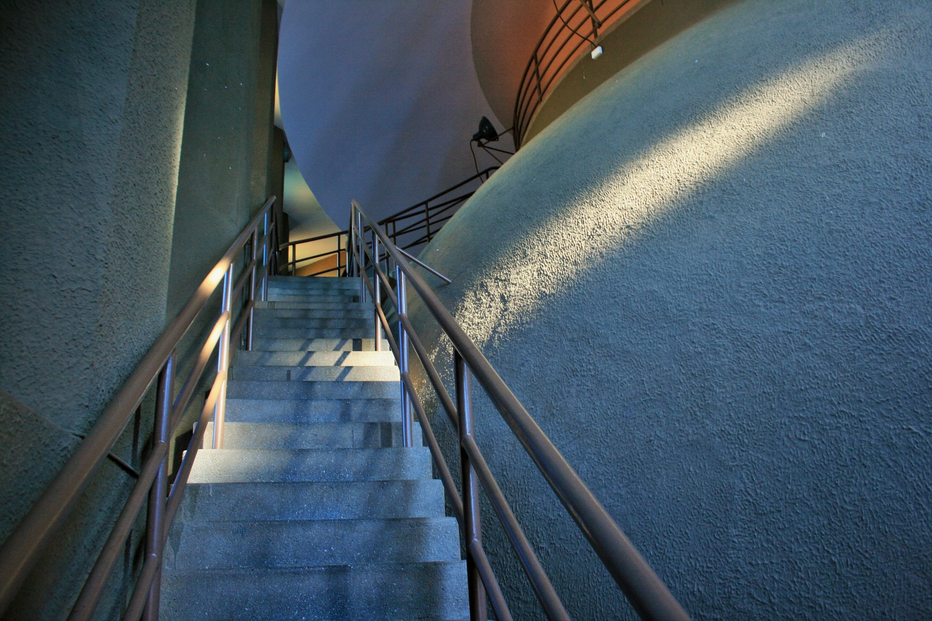
[[[90,479],[101,467],[103,460],[129,423],[133,412],[155,382],[156,411],[152,449],[146,456],[139,478],[72,607],[68,621],[84,621],[93,614],[103,594],[107,578],[117,558],[123,554],[126,539],[146,498],[148,508],[144,540],[145,560],[123,619],[138,621],[144,614],[146,621],[158,621],[162,552],[171,528],[171,520],[181,503],[188,474],[211,414],[214,416],[213,446],[219,448],[223,444],[229,346],[242,336],[246,348],[252,348],[255,302],[257,299],[265,299],[267,277],[270,273],[275,274],[278,271],[278,252],[273,250],[276,244],[272,242],[277,224],[275,210],[272,209],[274,204],[275,196],[272,196],[237,236],[223,258],[213,266],[191,299],[158,337],[130,378],[117,392],[117,396],[91,427],[61,472],[0,548],[0,616],[7,611],[35,562],[74,509],[78,498],[87,489]],[[248,256],[242,259],[240,276],[234,282],[240,252],[246,250],[247,246]],[[194,360],[192,370],[176,397],[175,372],[179,367],[176,360],[177,348],[221,283],[223,297],[219,317],[200,347],[198,358]],[[237,313],[239,318],[235,317]],[[168,448],[172,432],[181,421],[185,408],[218,345],[217,374],[170,489]]]

